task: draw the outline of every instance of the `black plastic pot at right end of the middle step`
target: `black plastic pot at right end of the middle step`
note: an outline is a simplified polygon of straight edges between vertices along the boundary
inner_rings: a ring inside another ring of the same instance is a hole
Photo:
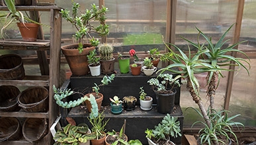
[[[173,89],[172,94],[159,94],[158,92],[155,92],[157,98],[157,112],[163,114],[173,112],[176,92],[175,89]]]

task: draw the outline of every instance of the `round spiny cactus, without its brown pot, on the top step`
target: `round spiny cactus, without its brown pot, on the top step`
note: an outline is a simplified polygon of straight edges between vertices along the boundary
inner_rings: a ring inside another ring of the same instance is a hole
[[[109,44],[102,44],[99,46],[99,53],[101,55],[101,60],[110,61],[113,58],[114,48]]]

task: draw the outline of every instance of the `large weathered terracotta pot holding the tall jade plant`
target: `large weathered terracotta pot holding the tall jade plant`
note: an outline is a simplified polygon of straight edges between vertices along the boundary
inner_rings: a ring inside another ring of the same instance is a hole
[[[83,51],[79,53],[78,44],[65,45],[62,47],[62,53],[69,65],[73,75],[82,76],[89,73],[87,55],[89,51],[95,49],[90,44],[83,44]]]

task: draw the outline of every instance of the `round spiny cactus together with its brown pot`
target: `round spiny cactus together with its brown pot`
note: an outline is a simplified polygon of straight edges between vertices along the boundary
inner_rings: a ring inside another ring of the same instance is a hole
[[[113,57],[114,47],[110,44],[99,45],[99,54],[101,56],[101,72],[103,74],[114,73],[114,57]]]

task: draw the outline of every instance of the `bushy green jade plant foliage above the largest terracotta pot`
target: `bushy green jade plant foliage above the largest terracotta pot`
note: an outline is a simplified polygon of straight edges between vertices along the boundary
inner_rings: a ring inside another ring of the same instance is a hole
[[[85,12],[81,13],[79,10],[79,3],[75,3],[72,1],[72,13],[69,15],[70,11],[67,9],[61,9],[60,13],[62,13],[62,17],[70,22],[72,26],[76,28],[76,32],[74,38],[79,41],[79,53],[83,51],[82,40],[85,36],[90,38],[91,45],[97,46],[100,44],[99,39],[91,36],[91,33],[99,34],[99,36],[107,36],[109,33],[108,25],[104,24],[105,14],[108,11],[107,7],[102,7],[99,9],[99,6],[96,6],[95,3],[91,5],[91,10],[86,9]],[[81,14],[79,14],[81,13]],[[98,26],[93,26],[91,22],[99,22]]]

